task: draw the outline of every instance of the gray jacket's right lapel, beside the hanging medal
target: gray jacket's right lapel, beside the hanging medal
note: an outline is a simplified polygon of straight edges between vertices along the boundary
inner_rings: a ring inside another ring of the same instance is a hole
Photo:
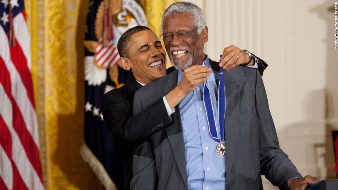
[[[219,62],[212,61],[210,63],[215,72],[216,84],[219,81]],[[225,138],[225,156],[226,156],[226,173],[230,173],[233,165],[234,155],[236,154],[236,142],[239,123],[239,85],[232,77],[236,75],[236,70],[230,72],[224,70],[224,86],[225,86],[225,118],[224,118],[224,138]]]

